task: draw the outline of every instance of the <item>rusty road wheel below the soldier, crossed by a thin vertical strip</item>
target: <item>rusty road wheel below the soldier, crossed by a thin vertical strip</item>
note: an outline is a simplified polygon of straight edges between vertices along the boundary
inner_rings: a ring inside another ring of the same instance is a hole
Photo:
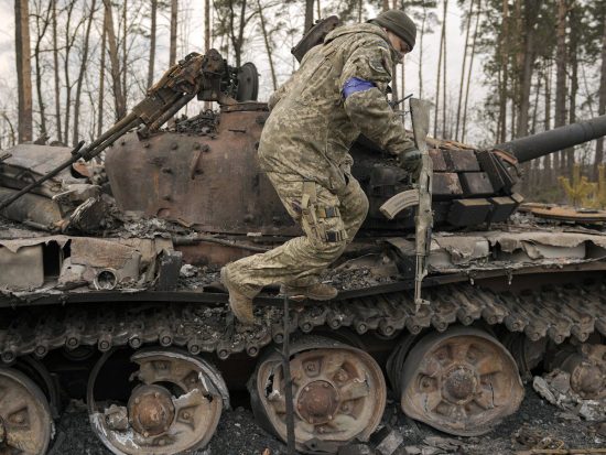
[[[354,438],[366,441],[386,404],[380,367],[364,350],[320,337],[293,344],[290,359],[296,449],[336,453]],[[270,351],[249,382],[252,410],[268,431],[286,440],[284,375]]]

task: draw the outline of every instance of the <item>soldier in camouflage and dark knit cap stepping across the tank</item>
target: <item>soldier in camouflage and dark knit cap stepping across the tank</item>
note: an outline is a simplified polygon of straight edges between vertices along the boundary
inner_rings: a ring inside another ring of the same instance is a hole
[[[421,154],[386,97],[393,62],[412,51],[415,35],[414,23],[400,10],[335,29],[271,96],[259,161],[304,236],[221,269],[240,322],[253,323],[252,299],[264,285],[281,283],[282,293],[312,300],[337,295],[318,277],[354,239],[368,212],[348,153],[360,133],[407,171],[419,171]]]

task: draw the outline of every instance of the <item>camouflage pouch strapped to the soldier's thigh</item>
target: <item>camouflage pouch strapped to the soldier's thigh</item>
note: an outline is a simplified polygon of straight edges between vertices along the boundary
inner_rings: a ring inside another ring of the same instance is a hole
[[[343,226],[338,207],[317,203],[315,182],[303,182],[301,204],[293,204],[293,207],[301,214],[303,230],[312,240],[322,242],[347,240],[347,232],[344,229],[333,228],[335,225]],[[335,218],[338,218],[338,221]]]

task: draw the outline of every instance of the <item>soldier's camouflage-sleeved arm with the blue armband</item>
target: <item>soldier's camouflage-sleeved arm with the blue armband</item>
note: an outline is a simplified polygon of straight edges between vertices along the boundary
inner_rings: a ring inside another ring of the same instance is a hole
[[[367,41],[348,56],[339,78],[344,107],[360,132],[398,155],[414,147],[404,124],[387,101],[392,59],[382,40]]]

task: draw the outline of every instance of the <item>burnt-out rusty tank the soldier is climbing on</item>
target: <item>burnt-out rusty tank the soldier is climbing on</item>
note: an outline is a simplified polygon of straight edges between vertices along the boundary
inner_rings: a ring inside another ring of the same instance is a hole
[[[516,412],[537,368],[562,369],[580,397],[605,399],[606,218],[517,210],[515,185],[521,162],[604,136],[606,117],[491,149],[428,139],[434,229],[420,306],[413,209],[393,220],[380,210],[411,182],[361,138],[353,174],[370,210],[322,277],[337,297],[284,302],[264,289],[249,327],[229,312],[219,268],[300,230],[256,160],[269,112],[246,101],[253,66],[216,74],[186,93],[204,91],[220,111],[160,130],[186,101],[162,105],[170,93],[152,89],[118,134],[94,143],[102,161],[77,161],[2,209],[0,453],[45,453],[66,397],[86,400],[115,454],[204,447],[230,391],[245,387],[259,424],[284,441],[292,416],[302,453],[367,441],[388,388],[410,418],[463,436]],[[78,153],[0,153],[0,197]],[[290,372],[277,349],[285,340]]]

